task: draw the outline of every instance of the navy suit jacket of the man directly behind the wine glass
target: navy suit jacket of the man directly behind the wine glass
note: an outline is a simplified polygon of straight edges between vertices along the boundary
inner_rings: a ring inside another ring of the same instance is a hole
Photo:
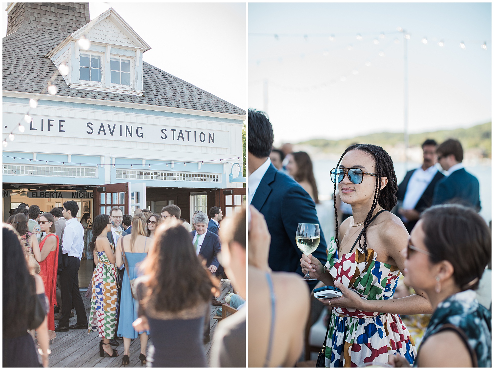
[[[296,272],[303,276],[300,267],[302,252],[295,243],[299,223],[319,224],[316,205],[310,195],[287,174],[271,164],[261,179],[250,204],[266,219],[271,234],[269,267],[273,271]],[[326,240],[321,230],[321,242],[312,253],[326,264]],[[309,281],[312,289],[317,281]]]

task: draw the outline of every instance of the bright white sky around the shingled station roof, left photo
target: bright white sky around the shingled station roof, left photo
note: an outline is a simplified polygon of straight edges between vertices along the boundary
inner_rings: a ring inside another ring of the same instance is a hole
[[[110,7],[151,46],[145,62],[247,108],[245,3],[90,2],[91,19]]]

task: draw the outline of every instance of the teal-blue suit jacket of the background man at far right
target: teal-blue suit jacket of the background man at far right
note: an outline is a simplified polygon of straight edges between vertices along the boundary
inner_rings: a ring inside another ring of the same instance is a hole
[[[460,168],[438,182],[432,204],[457,203],[474,207],[478,212],[480,211],[479,192],[477,177],[468,173],[465,168]]]

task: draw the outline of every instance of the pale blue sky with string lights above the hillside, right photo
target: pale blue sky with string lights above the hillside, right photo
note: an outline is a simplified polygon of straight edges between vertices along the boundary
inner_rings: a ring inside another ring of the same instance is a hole
[[[491,120],[491,3],[249,3],[248,22],[249,107],[264,109],[267,79],[277,144],[402,131],[397,27],[410,132]]]

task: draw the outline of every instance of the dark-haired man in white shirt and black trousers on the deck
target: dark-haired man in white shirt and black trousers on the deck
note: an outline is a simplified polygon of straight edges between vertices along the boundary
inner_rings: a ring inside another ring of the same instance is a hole
[[[58,321],[55,331],[87,329],[86,310],[79,292],[79,267],[84,248],[84,228],[77,219],[78,204],[74,201],[68,201],[63,206],[62,214],[67,222],[63,233],[62,253],[67,254],[67,266],[64,266],[60,274],[62,317]],[[69,327],[72,305],[76,309],[77,323]]]

